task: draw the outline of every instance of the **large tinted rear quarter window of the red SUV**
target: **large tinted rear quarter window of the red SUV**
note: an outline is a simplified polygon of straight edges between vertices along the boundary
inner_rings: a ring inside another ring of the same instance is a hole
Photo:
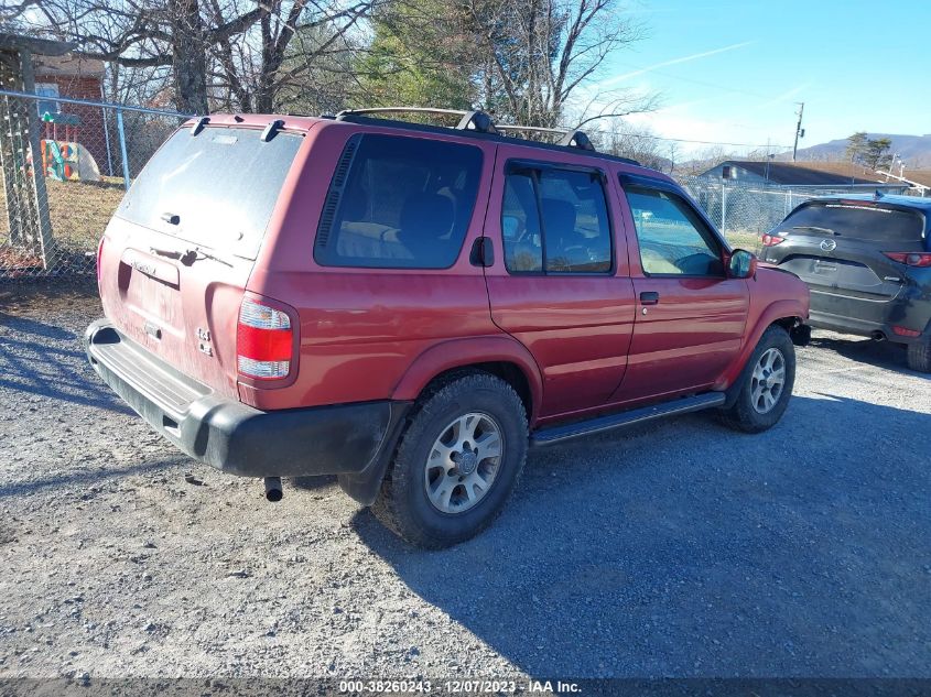
[[[347,143],[317,226],[327,266],[447,269],[459,254],[481,175],[481,151],[419,138]]]

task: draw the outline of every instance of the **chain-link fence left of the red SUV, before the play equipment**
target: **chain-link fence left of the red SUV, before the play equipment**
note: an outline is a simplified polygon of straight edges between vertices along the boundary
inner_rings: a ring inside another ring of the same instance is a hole
[[[0,279],[94,273],[132,177],[184,119],[0,90]]]

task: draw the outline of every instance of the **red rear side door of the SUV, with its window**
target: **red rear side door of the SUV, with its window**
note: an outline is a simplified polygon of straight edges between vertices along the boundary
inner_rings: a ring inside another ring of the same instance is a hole
[[[599,406],[627,366],[634,287],[619,206],[591,159],[501,145],[485,233],[491,317],[543,374],[540,416]]]

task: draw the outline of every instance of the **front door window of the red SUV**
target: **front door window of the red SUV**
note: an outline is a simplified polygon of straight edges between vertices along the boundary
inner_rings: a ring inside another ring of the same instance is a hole
[[[646,273],[724,275],[718,244],[689,204],[659,189],[625,190]]]

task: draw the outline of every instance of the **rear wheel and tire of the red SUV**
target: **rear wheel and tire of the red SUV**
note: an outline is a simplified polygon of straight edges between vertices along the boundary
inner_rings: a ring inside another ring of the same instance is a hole
[[[497,518],[527,458],[527,413],[507,382],[465,374],[427,392],[372,513],[420,547],[464,542]]]

